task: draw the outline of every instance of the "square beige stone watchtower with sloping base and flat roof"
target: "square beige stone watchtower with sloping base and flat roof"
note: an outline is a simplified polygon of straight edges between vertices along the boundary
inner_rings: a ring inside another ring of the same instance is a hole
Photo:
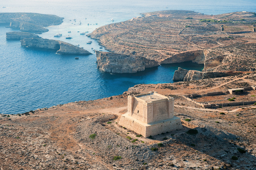
[[[119,125],[144,137],[181,129],[180,118],[173,116],[174,98],[156,91],[128,96],[128,112]]]

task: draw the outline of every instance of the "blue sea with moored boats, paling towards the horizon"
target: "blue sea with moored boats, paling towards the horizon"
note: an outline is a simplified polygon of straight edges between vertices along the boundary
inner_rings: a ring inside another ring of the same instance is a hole
[[[2,8],[5,6],[6,8]],[[205,14],[234,11],[256,12],[255,0],[1,0],[0,12],[37,12],[64,17],[58,26],[40,36],[58,39],[93,52],[99,50],[95,40],[79,32],[121,22],[139,13],[160,10],[192,10]],[[86,19],[85,19],[86,18]],[[111,19],[114,19],[112,22]],[[74,22],[73,19],[76,19]],[[70,21],[71,20],[71,21]],[[78,23],[82,24],[79,25]],[[90,25],[87,25],[89,23]],[[97,25],[96,25],[97,23]],[[75,25],[74,25],[75,24]],[[109,74],[96,67],[96,55],[58,55],[21,47],[19,41],[6,41],[6,32],[15,31],[0,25],[0,113],[18,114],[80,100],[94,100],[122,94],[141,83],[170,83],[178,67],[201,70],[203,65],[179,63],[161,65],[134,74]],[[71,30],[71,33],[68,33]],[[60,38],[53,37],[62,33]],[[73,38],[65,39],[67,35]],[[92,44],[86,44],[93,41]],[[104,51],[104,50],[103,50]]]

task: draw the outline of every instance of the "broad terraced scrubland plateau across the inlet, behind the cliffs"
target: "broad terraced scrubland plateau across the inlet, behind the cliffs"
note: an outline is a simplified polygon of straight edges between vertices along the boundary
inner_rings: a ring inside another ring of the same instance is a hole
[[[191,61],[203,71],[254,71],[256,14],[204,15],[168,10],[142,14],[94,30],[89,37],[110,52],[159,64]]]

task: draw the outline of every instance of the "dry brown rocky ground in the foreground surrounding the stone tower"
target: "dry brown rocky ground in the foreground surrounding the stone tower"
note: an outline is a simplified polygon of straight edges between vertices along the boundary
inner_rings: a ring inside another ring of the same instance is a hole
[[[0,115],[1,169],[245,169],[256,166],[256,106],[202,108],[198,102],[255,100],[256,91],[225,93],[256,84],[256,73],[195,81],[139,84],[130,94],[174,97],[183,129],[149,138],[120,127],[127,94]],[[204,94],[223,91],[220,95]],[[193,94],[192,94],[193,93]],[[197,95],[195,95],[195,93]],[[196,97],[201,96],[201,97]],[[189,130],[194,130],[191,131]],[[134,140],[136,139],[136,140]]]

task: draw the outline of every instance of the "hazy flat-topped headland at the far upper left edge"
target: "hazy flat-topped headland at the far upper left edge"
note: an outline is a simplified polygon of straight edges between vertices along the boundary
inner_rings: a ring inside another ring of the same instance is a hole
[[[64,18],[38,13],[0,13],[0,23],[8,23],[11,28],[25,32],[47,32],[44,27],[61,24]]]

